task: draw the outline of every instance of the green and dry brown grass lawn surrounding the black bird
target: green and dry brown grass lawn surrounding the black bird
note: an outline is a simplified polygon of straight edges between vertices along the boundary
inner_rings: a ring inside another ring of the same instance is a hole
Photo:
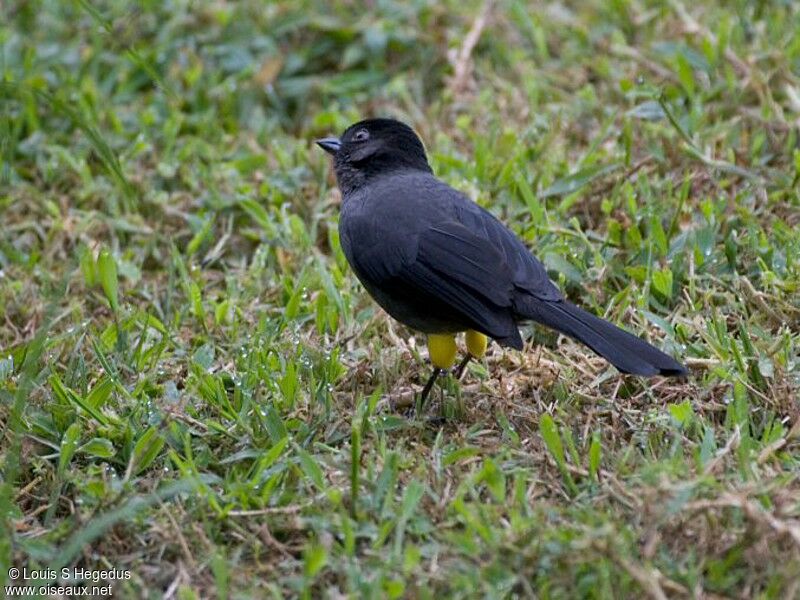
[[[800,594],[796,3],[12,1],[0,72],[0,577]],[[312,143],[385,114],[691,377],[525,327],[393,412]]]

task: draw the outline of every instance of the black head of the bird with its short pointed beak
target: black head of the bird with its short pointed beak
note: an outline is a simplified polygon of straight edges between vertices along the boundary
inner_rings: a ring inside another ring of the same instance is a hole
[[[344,194],[382,175],[415,169],[431,172],[419,136],[394,119],[359,121],[340,138],[322,138],[317,145],[333,156],[336,180]]]

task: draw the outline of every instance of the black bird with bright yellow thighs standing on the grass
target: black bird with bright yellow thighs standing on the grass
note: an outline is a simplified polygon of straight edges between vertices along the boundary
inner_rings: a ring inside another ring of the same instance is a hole
[[[519,325],[536,322],[588,346],[622,373],[685,376],[677,360],[568,301],[544,265],[493,214],[438,179],[415,131],[391,118],[350,125],[316,140],[333,157],[342,202],[339,239],[372,298],[427,335],[437,378],[453,368],[456,335],[480,359],[489,339],[523,349]]]

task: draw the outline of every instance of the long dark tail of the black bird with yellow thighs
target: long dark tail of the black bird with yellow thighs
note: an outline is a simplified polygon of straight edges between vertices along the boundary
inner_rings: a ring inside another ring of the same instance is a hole
[[[520,316],[586,344],[623,373],[686,375],[686,367],[671,356],[566,300],[547,302],[526,298],[521,304],[515,307]]]

